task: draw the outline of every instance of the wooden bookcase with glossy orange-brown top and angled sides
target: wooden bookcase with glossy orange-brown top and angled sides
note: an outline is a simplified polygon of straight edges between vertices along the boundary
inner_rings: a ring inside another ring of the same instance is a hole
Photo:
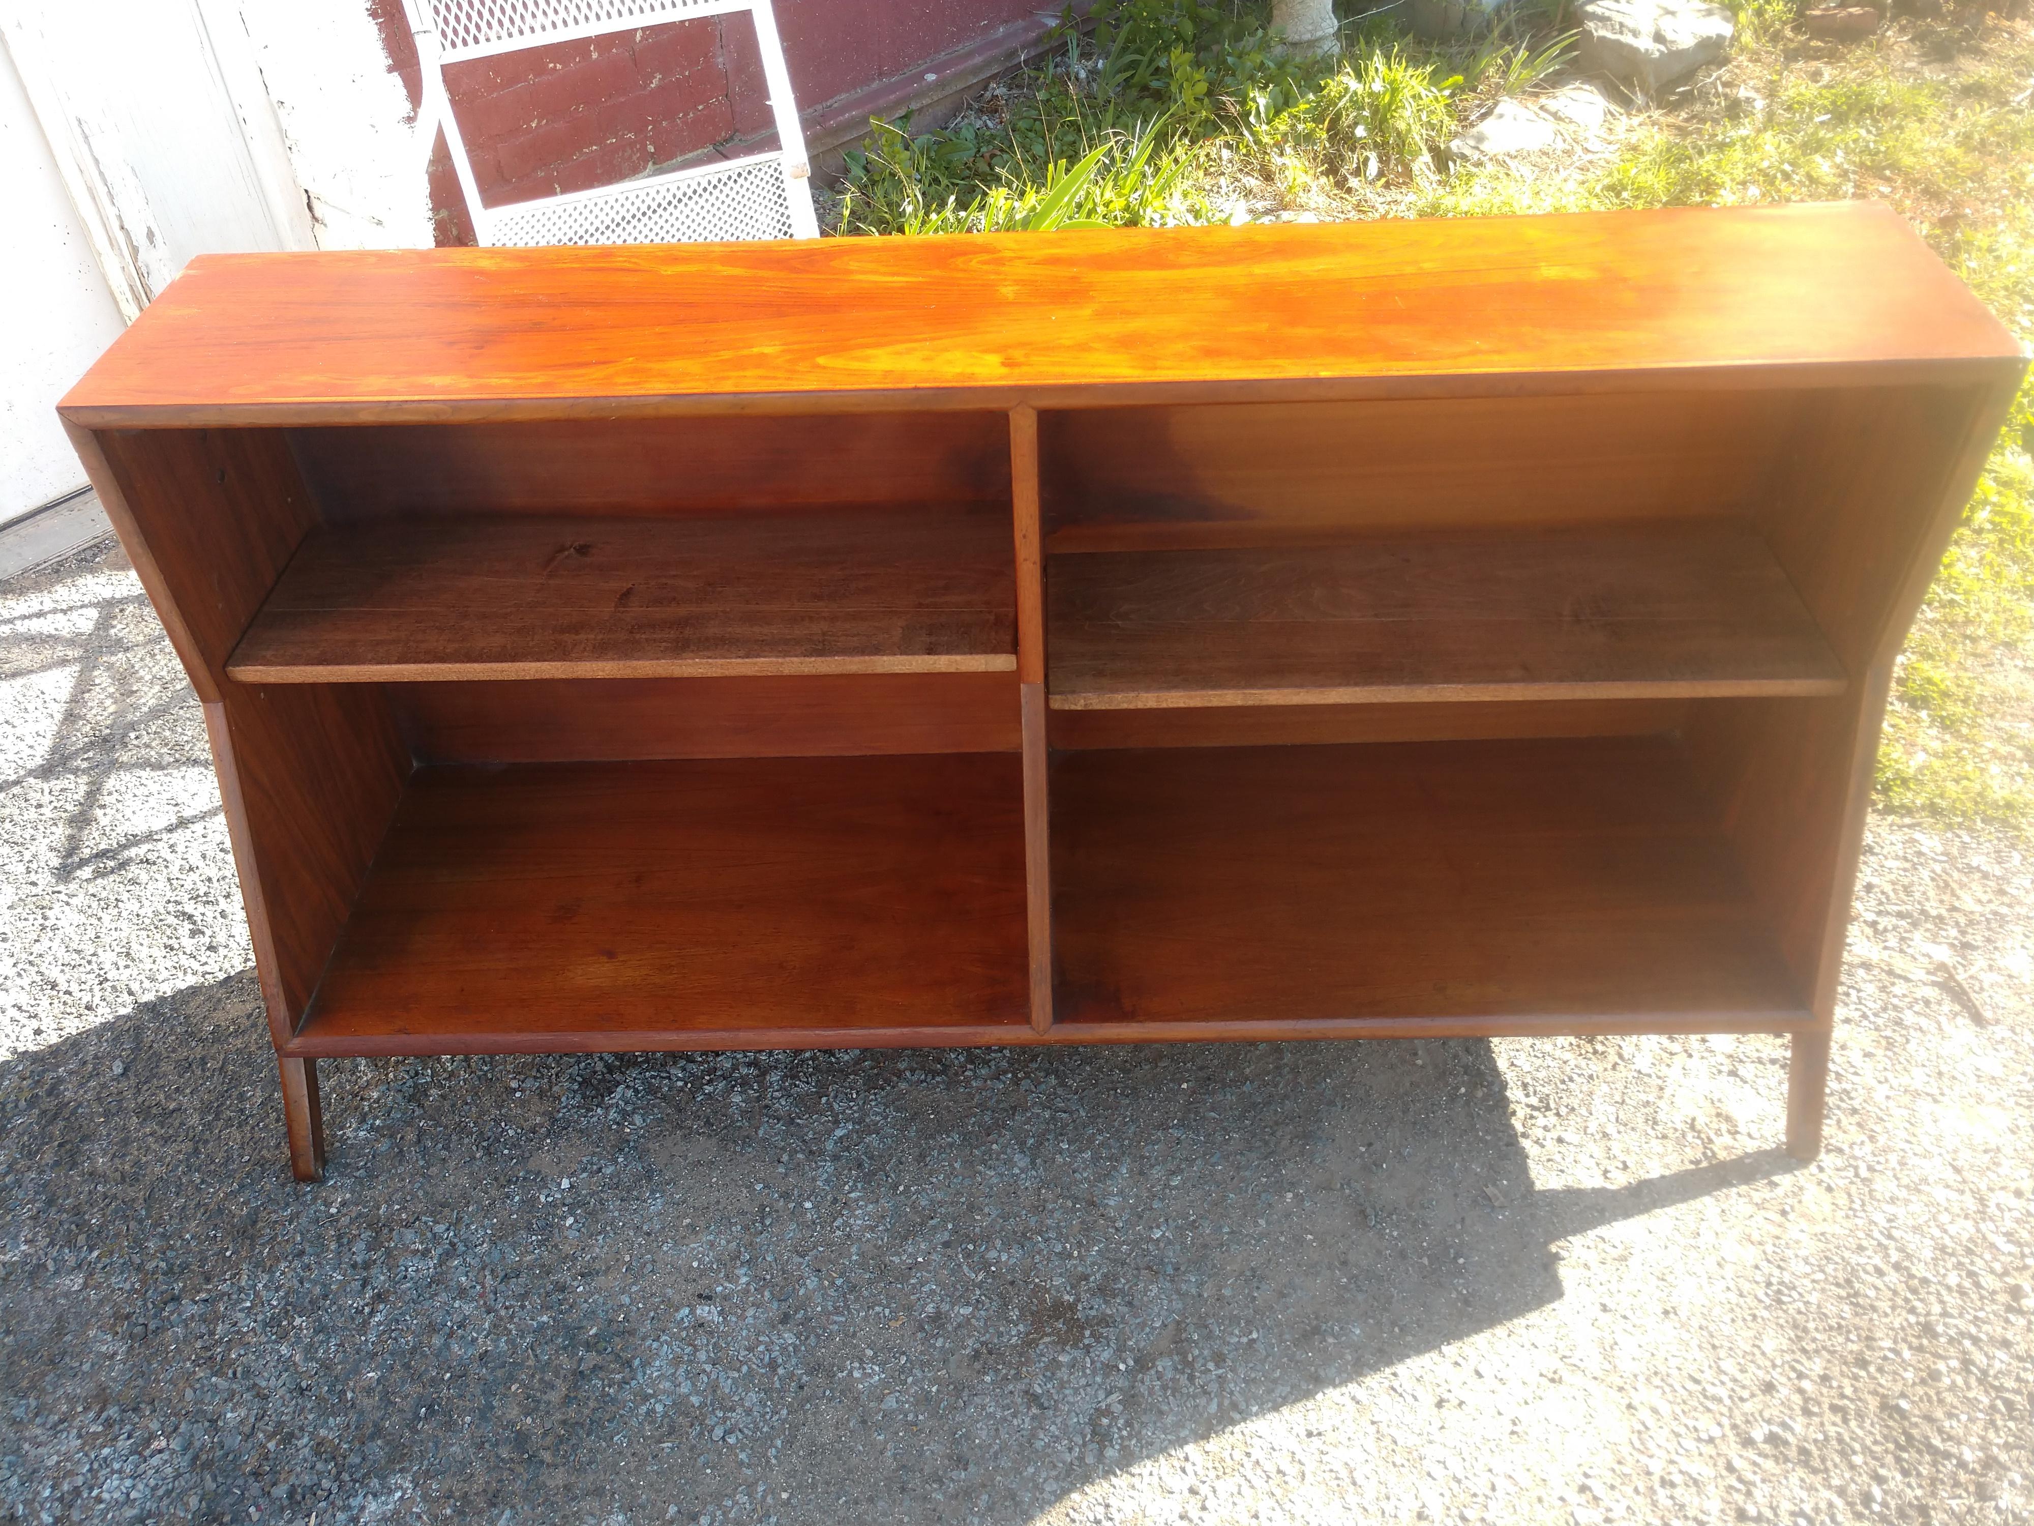
[[[63,401],[342,1054],[1782,1032],[2024,362],[1883,208],[212,256]]]

